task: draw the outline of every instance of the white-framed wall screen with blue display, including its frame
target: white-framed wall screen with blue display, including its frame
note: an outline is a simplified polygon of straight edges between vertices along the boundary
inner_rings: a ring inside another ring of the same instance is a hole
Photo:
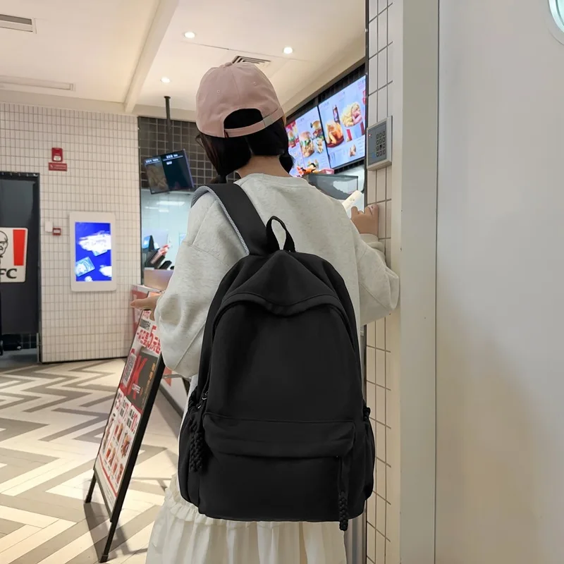
[[[115,216],[73,212],[70,220],[73,257],[71,289],[75,292],[116,290],[113,264]]]

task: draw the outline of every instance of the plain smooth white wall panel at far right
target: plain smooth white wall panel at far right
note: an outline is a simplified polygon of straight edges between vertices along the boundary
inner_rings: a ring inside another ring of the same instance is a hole
[[[437,564],[564,562],[564,45],[441,1]]]

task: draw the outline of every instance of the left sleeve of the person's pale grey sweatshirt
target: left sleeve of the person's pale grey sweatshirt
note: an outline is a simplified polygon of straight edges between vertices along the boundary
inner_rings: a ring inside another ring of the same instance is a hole
[[[180,376],[197,374],[209,306],[221,280],[243,255],[219,205],[202,196],[190,211],[188,233],[155,310],[164,362]]]

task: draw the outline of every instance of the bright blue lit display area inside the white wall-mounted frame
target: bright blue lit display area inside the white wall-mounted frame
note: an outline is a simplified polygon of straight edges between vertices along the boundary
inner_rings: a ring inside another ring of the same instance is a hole
[[[75,278],[77,282],[109,282],[111,272],[111,224],[75,223]]]

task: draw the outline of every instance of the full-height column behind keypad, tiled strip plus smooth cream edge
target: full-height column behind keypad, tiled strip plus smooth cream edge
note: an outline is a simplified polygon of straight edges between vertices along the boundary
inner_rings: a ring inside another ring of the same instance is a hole
[[[368,123],[393,119],[393,164],[367,172],[367,198],[401,281],[398,310],[367,331],[367,564],[433,564],[438,0],[367,4]]]

